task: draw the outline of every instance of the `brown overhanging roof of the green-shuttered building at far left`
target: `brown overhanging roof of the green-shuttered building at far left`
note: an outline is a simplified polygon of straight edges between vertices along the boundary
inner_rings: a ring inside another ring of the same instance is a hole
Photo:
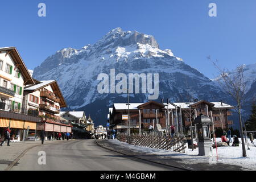
[[[24,61],[22,60],[22,57],[20,57],[18,50],[16,47],[0,47],[1,51],[7,51],[7,53],[11,56],[11,58],[14,61],[14,65],[16,68],[19,69],[19,72],[24,77],[24,84],[34,84],[34,80],[32,76],[30,75],[30,72],[28,71]]]

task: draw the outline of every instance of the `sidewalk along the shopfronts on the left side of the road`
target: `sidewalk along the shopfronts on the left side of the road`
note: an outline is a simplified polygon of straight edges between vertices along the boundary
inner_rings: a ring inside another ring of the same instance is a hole
[[[67,140],[45,140],[44,144],[64,142]],[[5,170],[16,158],[31,147],[42,145],[41,141],[14,142],[7,146],[7,142],[0,146],[0,171]]]

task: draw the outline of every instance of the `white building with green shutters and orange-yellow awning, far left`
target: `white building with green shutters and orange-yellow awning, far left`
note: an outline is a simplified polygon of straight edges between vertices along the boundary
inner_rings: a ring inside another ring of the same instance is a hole
[[[0,135],[11,129],[11,140],[22,140],[36,129],[38,117],[29,115],[24,105],[24,86],[35,84],[15,47],[0,48]]]

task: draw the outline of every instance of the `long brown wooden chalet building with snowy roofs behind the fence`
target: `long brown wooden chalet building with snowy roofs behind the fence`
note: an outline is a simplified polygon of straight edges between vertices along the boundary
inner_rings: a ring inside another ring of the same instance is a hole
[[[155,101],[130,103],[130,130],[131,133],[138,133],[139,129],[143,132],[147,131],[150,125],[155,128],[159,124],[162,131],[166,131],[170,129],[171,125],[174,125],[176,129],[186,132],[191,126],[191,121],[193,122],[200,114],[208,115],[214,121],[214,128],[222,127],[226,129],[233,125],[233,121],[228,119],[228,116],[232,114],[231,109],[234,109],[234,107],[223,102],[207,101],[192,103],[169,103],[168,101],[167,103]],[[127,132],[129,127],[128,120],[123,118],[123,115],[127,114],[127,104],[113,104],[108,114],[112,129],[119,132]]]

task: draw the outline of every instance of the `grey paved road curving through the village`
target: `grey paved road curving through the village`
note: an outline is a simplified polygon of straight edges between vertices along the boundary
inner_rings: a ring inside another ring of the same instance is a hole
[[[46,152],[46,165],[38,164],[38,152]],[[95,140],[53,143],[29,150],[11,170],[78,170],[78,171],[165,171],[175,170],[144,162],[97,146]]]

